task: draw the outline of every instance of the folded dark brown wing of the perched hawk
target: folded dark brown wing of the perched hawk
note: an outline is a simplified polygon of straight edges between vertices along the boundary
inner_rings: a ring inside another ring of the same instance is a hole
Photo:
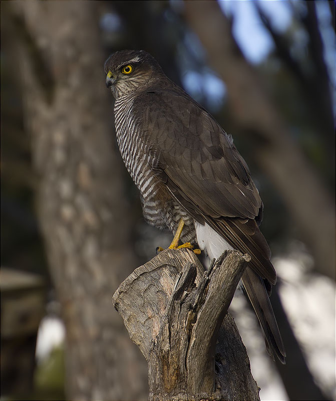
[[[184,92],[153,89],[134,99],[148,162],[175,199],[234,248],[252,257],[256,273],[276,281],[257,223],[262,202],[232,138]]]

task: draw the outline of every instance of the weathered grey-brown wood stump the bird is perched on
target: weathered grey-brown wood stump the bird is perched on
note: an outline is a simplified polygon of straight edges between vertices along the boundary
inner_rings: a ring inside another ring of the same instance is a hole
[[[148,361],[149,400],[259,399],[227,313],[250,260],[225,252],[204,272],[189,250],[165,250],[117,289],[114,306]]]

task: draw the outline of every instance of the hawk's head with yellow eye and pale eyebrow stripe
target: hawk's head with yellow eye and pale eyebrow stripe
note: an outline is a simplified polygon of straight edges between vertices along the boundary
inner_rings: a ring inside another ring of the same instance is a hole
[[[143,50],[121,50],[105,62],[106,86],[115,98],[147,88],[165,76],[159,63]]]

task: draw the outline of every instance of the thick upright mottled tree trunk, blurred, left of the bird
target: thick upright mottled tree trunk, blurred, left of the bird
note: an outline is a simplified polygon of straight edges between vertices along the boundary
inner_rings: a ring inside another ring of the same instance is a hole
[[[146,363],[111,301],[137,261],[95,2],[12,7],[23,45],[17,73],[40,177],[37,210],[67,330],[67,396],[144,398]]]

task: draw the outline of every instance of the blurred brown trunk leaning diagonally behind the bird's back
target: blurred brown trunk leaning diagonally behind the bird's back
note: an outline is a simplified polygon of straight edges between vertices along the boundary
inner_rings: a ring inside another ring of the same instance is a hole
[[[184,2],[190,27],[223,78],[236,121],[253,136],[251,150],[270,177],[315,258],[318,272],[334,278],[334,205],[292,141],[257,73],[246,62],[217,2]],[[214,40],[216,38],[216,40]],[[318,235],[316,235],[318,233]]]

